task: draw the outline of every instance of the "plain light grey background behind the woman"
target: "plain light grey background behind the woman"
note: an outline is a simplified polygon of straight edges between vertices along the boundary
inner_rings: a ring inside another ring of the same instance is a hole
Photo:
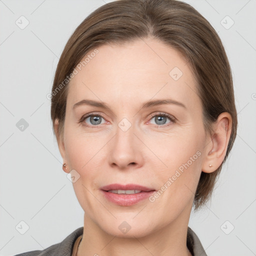
[[[0,0],[0,255],[46,248],[83,225],[83,210],[61,168],[46,94],[71,32],[105,2]],[[256,255],[256,0],[186,2],[223,42],[239,122],[211,203],[191,213],[189,226],[209,256]],[[24,29],[15,23],[25,24],[21,15],[29,21]],[[29,124],[23,131],[16,126],[21,118]],[[24,234],[16,229],[20,221],[29,226]]]

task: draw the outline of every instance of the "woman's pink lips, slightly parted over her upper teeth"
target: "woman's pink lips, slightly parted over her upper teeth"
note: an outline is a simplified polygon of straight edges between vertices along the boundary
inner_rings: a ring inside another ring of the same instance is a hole
[[[129,205],[135,204],[143,199],[148,198],[155,191],[155,189],[153,188],[149,188],[141,185],[136,185],[136,184],[121,185],[117,183],[102,186],[100,189],[106,199],[108,199],[109,201],[115,204],[122,205],[122,206],[129,206]],[[133,189],[141,190],[141,192],[134,193],[134,194],[117,194],[117,193],[108,192],[108,190],[133,190]]]

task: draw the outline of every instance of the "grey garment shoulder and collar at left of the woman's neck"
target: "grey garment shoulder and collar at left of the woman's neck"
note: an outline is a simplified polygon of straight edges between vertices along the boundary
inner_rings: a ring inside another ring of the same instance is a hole
[[[71,256],[76,238],[83,233],[83,226],[70,233],[63,241],[53,244],[43,250],[31,250],[14,256]]]

